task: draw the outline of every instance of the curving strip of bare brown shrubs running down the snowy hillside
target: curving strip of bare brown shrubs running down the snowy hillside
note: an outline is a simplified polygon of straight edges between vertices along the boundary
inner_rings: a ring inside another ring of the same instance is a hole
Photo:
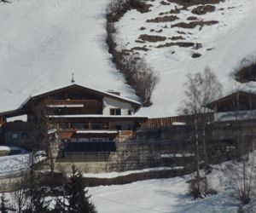
[[[143,106],[148,107],[152,104],[150,98],[158,77],[146,65],[145,60],[141,60],[138,55],[131,55],[127,51],[116,49],[116,29],[114,28],[113,22],[119,20],[131,8],[145,10],[148,6],[139,0],[115,1],[108,6],[106,43],[108,44],[108,52],[113,56],[113,63],[124,74],[126,82],[135,89],[136,94],[143,102]],[[139,48],[139,50],[147,49]]]

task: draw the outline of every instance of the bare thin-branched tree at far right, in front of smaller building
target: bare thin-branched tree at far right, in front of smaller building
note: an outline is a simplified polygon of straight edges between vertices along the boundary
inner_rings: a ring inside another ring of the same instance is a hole
[[[247,212],[245,209],[252,208],[253,203],[256,202],[256,164],[253,135],[248,126],[251,124],[250,118],[247,120],[247,125],[241,123],[239,119],[241,102],[239,88],[236,85],[232,109],[235,117],[233,136],[236,140],[237,152],[230,167],[230,176],[228,176],[232,188],[230,197],[239,203],[240,212]],[[249,102],[250,106],[247,110],[253,110],[252,100]],[[253,113],[251,114],[253,115]]]

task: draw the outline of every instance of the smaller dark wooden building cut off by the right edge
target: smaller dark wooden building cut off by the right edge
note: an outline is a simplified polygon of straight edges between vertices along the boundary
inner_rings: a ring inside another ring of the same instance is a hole
[[[237,91],[208,103],[205,107],[214,111],[214,121],[234,121],[256,118],[256,94]]]

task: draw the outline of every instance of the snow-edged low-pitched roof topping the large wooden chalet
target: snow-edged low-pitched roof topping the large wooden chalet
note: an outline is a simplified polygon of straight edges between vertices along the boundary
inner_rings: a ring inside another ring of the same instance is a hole
[[[48,93],[54,92],[55,90],[69,89],[69,88],[72,88],[72,87],[80,87],[80,88],[84,88],[84,89],[89,89],[91,92],[99,93],[99,94],[101,94],[101,95],[103,95],[103,96],[113,97],[113,98],[119,99],[119,100],[121,100],[121,101],[128,101],[128,102],[131,102],[132,104],[135,104],[135,105],[137,105],[137,106],[141,106],[141,103],[138,102],[138,101],[134,101],[134,100],[131,100],[131,99],[129,99],[129,98],[122,97],[122,96],[120,96],[120,95],[114,95],[113,93],[104,92],[104,91],[99,90],[99,89],[92,89],[92,88],[84,87],[84,86],[79,85],[79,84],[77,84],[77,83],[73,83],[73,84],[63,85],[63,86],[61,86],[61,87],[57,87],[57,88],[53,88],[53,89],[49,89],[49,90],[44,90],[44,91],[42,91],[42,92],[40,92],[40,93],[30,95],[28,98],[26,98],[26,101],[24,101],[24,102],[20,105],[19,109],[22,108],[22,107],[24,107],[24,106],[26,105],[26,103],[27,103],[28,101],[30,101],[32,98],[36,98],[36,97],[38,97],[38,96],[40,96],[40,95],[46,95],[46,94],[48,94]]]

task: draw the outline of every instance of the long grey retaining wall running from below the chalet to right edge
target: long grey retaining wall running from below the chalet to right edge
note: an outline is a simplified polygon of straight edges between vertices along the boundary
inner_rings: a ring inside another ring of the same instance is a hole
[[[210,164],[218,164],[237,156],[237,135],[246,147],[256,147],[255,123],[222,123],[207,124],[205,142]],[[198,129],[199,148],[203,156],[203,135]],[[117,152],[109,153],[105,158],[96,157],[88,161],[88,156],[57,160],[59,168],[71,170],[75,164],[84,172],[106,172],[141,170],[153,167],[183,166],[185,170],[193,170],[195,166],[195,126],[171,126],[161,130],[144,130],[135,141],[117,143]],[[87,159],[86,159],[87,158]],[[204,158],[202,157],[201,162]]]

